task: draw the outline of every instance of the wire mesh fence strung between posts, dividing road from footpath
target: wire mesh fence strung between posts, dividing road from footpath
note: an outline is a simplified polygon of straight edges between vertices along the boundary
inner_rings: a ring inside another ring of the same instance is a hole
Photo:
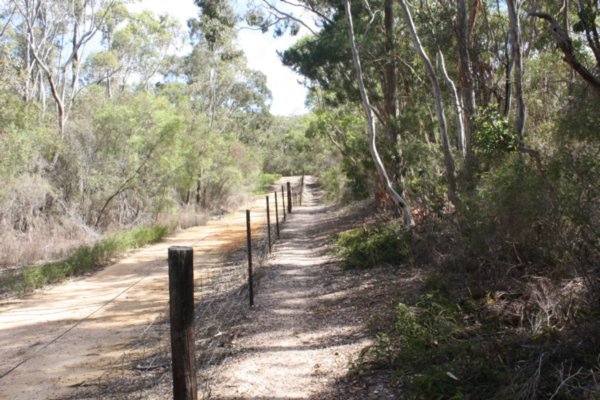
[[[290,210],[289,200],[293,210],[301,205],[303,192],[304,176],[291,185],[290,191],[286,193],[287,198],[282,199],[277,190],[278,219],[275,217],[276,210],[271,208],[270,229],[273,241],[277,238],[274,229],[276,223],[281,229],[285,227]],[[273,202],[274,198],[270,201]],[[269,226],[266,224],[266,212],[262,214],[253,209],[253,214],[257,216],[252,221],[253,288],[255,293],[260,295],[260,278],[264,275],[262,267],[270,252],[267,234]],[[194,261],[194,347],[200,399],[210,398],[216,367],[232,355],[233,342],[249,309],[245,238],[232,246],[233,251],[217,257],[216,262],[212,260],[209,264],[199,265],[197,262],[201,262],[200,260]],[[124,349],[116,365],[107,365],[105,371],[95,381],[83,384],[84,387],[76,391],[72,399],[172,398],[168,306],[163,313],[147,324],[138,340]]]

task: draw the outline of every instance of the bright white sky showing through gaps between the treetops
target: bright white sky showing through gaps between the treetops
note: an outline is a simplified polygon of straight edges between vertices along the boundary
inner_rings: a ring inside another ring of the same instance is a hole
[[[198,7],[193,0],[142,0],[133,3],[130,9],[132,11],[146,9],[155,14],[170,14],[177,18],[184,28],[186,21],[198,14]],[[272,114],[299,115],[307,112],[304,106],[307,90],[299,83],[300,76],[285,67],[277,56],[278,50],[287,49],[302,34],[303,32],[300,31],[295,37],[285,35],[273,38],[271,33],[249,29],[242,29],[238,33],[238,46],[246,53],[248,66],[267,76],[267,85],[273,96]]]

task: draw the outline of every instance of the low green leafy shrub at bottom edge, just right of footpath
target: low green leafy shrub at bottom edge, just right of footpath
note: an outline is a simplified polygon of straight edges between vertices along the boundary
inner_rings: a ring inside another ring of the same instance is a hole
[[[441,291],[421,295],[412,306],[400,303],[392,330],[380,333],[376,343],[363,351],[361,361],[389,365],[418,398],[467,398],[464,393],[472,371],[463,370],[468,368],[465,358],[477,363],[487,357],[477,343],[461,337],[466,324],[460,312],[459,305]]]

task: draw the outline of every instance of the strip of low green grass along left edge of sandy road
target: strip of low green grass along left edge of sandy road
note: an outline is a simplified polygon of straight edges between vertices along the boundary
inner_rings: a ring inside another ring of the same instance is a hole
[[[16,271],[0,281],[0,289],[24,294],[49,283],[94,271],[127,250],[162,239],[169,231],[167,226],[149,226],[112,234],[96,243],[77,248],[64,260]]]

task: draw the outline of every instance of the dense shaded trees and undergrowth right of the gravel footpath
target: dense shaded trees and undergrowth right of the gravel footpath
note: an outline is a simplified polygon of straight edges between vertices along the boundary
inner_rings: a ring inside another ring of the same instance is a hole
[[[406,398],[598,398],[598,4],[408,3],[327,3],[283,54],[330,198],[380,213],[332,238],[342,268],[428,271],[352,371]]]

